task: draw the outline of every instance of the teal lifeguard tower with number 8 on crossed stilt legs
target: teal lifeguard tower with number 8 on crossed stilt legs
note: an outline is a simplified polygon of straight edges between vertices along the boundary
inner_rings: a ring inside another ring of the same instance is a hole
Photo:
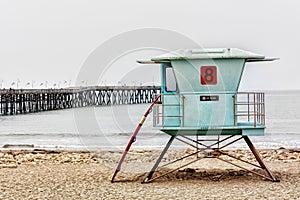
[[[160,64],[162,86],[159,101],[153,107],[153,124],[170,135],[170,140],[144,182],[168,174],[152,177],[174,139],[195,148],[195,152],[176,161],[195,155],[193,162],[201,158],[229,162],[222,156],[236,157],[228,155],[223,149],[244,139],[258,165],[236,159],[264,169],[267,175],[249,172],[277,181],[248,137],[264,135],[264,93],[238,92],[247,63],[272,60],[276,58],[265,58],[237,48],[216,48],[182,49],[138,61],[142,64]]]

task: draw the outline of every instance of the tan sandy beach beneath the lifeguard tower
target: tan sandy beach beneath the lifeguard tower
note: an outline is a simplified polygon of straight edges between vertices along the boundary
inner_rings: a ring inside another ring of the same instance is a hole
[[[190,151],[170,151],[163,162]],[[111,183],[121,152],[3,150],[0,152],[0,199],[300,198],[299,149],[260,151],[280,182],[265,180],[216,159],[203,159],[166,177],[141,184],[159,153],[131,151],[116,182]],[[228,153],[254,161],[249,151]],[[161,169],[165,170],[168,169]]]

